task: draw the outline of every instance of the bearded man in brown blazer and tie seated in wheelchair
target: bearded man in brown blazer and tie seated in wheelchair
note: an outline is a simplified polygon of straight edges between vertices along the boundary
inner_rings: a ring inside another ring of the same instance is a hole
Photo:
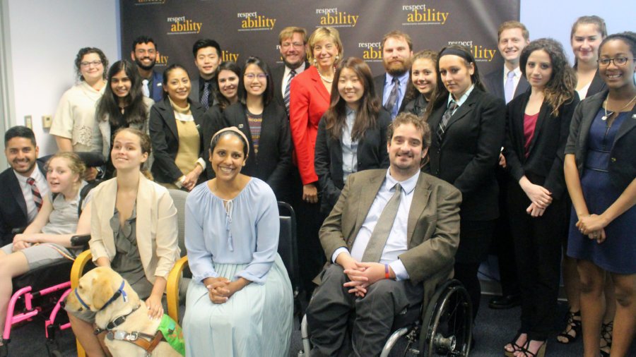
[[[452,276],[461,193],[420,172],[428,124],[402,113],[389,127],[390,166],[348,176],[320,229],[327,260],[307,308],[310,356],[377,356],[394,316]],[[351,325],[351,329],[350,329]]]

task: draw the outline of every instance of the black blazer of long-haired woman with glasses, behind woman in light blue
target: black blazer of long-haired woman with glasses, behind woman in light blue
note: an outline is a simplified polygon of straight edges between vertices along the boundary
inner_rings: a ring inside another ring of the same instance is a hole
[[[291,134],[285,109],[276,102],[270,102],[263,109],[258,155],[254,155],[254,143],[249,131],[245,104],[239,102],[225,108],[223,128],[228,126],[236,126],[249,140],[249,156],[241,170],[242,174],[266,181],[276,193],[276,197],[279,197],[283,186],[288,184],[286,179],[292,165]]]

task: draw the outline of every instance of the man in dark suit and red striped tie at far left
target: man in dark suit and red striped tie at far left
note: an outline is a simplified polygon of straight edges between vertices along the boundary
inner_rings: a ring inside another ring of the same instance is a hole
[[[11,243],[15,228],[28,226],[49,193],[44,164],[37,162],[35,134],[14,126],[4,134],[4,155],[11,168],[0,174],[0,241]],[[37,169],[36,169],[37,167]]]

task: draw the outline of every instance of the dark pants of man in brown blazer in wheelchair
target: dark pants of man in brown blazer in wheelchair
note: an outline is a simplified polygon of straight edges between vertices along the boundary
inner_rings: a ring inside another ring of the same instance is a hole
[[[338,356],[348,348],[349,318],[353,319],[353,356],[379,356],[391,334],[394,316],[422,302],[423,284],[382,279],[367,288],[364,298],[348,293],[348,277],[340,265],[322,272],[322,284],[307,307],[307,324],[314,348],[310,356]]]

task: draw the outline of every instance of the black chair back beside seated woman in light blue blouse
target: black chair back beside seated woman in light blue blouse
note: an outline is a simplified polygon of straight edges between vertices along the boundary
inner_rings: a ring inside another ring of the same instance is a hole
[[[287,268],[294,296],[298,294],[300,274],[298,271],[298,246],[296,241],[296,214],[287,202],[278,202],[281,230],[278,235],[278,255]]]

